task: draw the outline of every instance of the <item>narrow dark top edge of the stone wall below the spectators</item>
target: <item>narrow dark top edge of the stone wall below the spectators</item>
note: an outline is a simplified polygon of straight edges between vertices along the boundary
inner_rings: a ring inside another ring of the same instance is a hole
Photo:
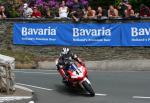
[[[0,22],[74,22],[70,18],[6,18],[0,19]],[[103,23],[114,23],[114,22],[142,22],[150,21],[150,17],[139,17],[139,18],[98,18],[98,19],[81,19],[79,22],[103,22]]]

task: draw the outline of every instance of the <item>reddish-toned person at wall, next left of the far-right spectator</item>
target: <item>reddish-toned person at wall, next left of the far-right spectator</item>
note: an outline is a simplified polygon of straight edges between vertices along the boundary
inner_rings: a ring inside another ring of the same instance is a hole
[[[130,4],[128,4],[127,9],[125,10],[125,17],[135,18],[134,10],[132,9],[132,6]]]

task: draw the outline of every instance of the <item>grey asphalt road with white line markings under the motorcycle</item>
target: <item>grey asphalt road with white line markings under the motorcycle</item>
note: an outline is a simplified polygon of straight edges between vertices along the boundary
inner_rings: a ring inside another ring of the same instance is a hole
[[[56,71],[15,70],[16,82],[35,92],[36,103],[150,103],[150,72],[89,71],[95,97],[71,90]]]

